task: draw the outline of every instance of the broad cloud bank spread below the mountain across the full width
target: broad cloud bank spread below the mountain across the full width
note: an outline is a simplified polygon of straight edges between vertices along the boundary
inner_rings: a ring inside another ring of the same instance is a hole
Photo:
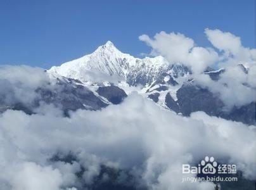
[[[75,189],[91,184],[101,165],[140,176],[136,186],[212,189],[210,183],[181,182],[182,163],[195,164],[205,155],[226,158],[248,179],[256,177],[255,130],[238,122],[203,112],[181,117],[136,93],[120,105],[78,110],[70,118],[53,115],[51,109],[1,115],[1,189]],[[51,160],[70,152],[76,156],[73,163]],[[76,175],[82,167],[84,184]]]

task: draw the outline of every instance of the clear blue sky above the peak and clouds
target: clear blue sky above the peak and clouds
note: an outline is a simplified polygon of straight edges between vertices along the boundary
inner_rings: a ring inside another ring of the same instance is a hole
[[[0,0],[0,65],[49,68],[112,41],[139,56],[150,48],[138,40],[164,30],[210,46],[203,31],[219,28],[255,44],[253,0]]]

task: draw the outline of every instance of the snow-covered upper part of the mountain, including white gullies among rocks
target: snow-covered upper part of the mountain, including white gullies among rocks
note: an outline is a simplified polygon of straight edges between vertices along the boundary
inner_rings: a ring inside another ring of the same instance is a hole
[[[54,77],[79,80],[96,93],[98,87],[110,83],[124,89],[126,94],[134,90],[129,87],[139,86],[136,91],[168,108],[165,97],[169,93],[174,101],[177,100],[176,92],[188,80],[189,69],[178,63],[170,65],[162,56],[135,58],[122,53],[108,41],[91,54],[53,66],[48,73]]]

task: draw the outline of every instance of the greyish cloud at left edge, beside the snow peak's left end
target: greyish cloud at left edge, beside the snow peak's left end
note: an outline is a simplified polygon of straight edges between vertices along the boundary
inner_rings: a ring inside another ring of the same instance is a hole
[[[0,97],[7,103],[31,103],[35,89],[48,84],[49,77],[42,68],[31,66],[0,66]]]

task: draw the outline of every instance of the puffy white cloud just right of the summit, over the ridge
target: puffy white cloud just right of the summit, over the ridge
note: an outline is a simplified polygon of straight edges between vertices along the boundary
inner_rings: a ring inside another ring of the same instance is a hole
[[[167,58],[170,63],[182,63],[191,67],[194,73],[202,73],[218,58],[214,49],[197,47],[193,39],[180,33],[160,32],[153,39],[144,34],[139,36],[139,39],[152,47],[154,52]]]

